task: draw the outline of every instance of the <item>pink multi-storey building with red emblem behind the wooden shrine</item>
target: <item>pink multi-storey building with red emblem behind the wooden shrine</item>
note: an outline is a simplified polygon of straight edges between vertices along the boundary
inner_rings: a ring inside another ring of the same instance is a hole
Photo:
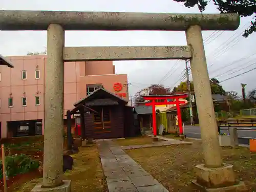
[[[47,55],[6,58],[14,68],[0,66],[1,138],[44,134]],[[122,84],[119,92],[114,90],[116,82]],[[115,74],[112,61],[65,63],[64,115],[76,101],[102,86],[129,100],[127,74]]]

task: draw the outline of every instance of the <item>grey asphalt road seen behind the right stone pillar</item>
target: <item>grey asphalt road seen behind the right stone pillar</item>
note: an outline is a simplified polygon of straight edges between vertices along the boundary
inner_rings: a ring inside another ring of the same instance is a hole
[[[221,127],[221,128],[225,129],[225,127]],[[252,138],[256,139],[256,127],[237,127],[237,128],[243,129],[243,130],[238,130],[238,142],[240,144],[249,144],[249,139],[252,139]],[[201,138],[199,126],[186,125],[184,127],[184,133],[186,137]],[[228,130],[221,130],[221,133],[228,134]]]

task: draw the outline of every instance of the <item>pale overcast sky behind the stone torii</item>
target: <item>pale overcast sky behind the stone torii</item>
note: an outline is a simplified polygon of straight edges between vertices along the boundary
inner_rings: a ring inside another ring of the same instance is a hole
[[[172,0],[0,0],[2,10],[55,10],[55,11],[113,11],[199,13],[198,8],[186,8]],[[218,13],[214,5],[204,13]],[[203,32],[207,65],[210,77],[220,81],[249,71],[256,66],[256,33],[248,38],[242,32],[250,25],[252,16],[241,19],[236,31]],[[44,52],[46,31],[0,31],[0,53],[4,56]],[[186,45],[185,33],[172,31],[68,31],[66,46],[182,46]],[[177,60],[114,61],[116,72],[127,73],[130,93],[152,83],[173,87],[183,80],[185,62]],[[222,82],[226,91],[241,94],[241,84],[246,90],[256,88],[256,70]],[[253,77],[254,76],[254,77]]]

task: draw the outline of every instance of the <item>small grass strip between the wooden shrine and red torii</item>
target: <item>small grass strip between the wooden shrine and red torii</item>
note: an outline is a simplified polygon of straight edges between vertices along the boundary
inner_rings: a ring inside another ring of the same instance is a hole
[[[158,139],[158,141],[164,141],[164,140]],[[119,146],[145,145],[145,144],[152,144],[153,137],[140,136],[140,137],[125,138],[125,139],[117,139],[117,140],[113,140],[113,142]]]

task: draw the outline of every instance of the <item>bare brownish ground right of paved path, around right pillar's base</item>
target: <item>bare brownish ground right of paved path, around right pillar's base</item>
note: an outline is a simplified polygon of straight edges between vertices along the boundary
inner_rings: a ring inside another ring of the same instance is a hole
[[[199,191],[191,180],[195,179],[194,166],[203,163],[201,141],[193,140],[192,145],[139,148],[126,152],[169,191]],[[256,154],[245,147],[225,147],[222,155],[225,163],[234,165],[234,172],[245,182],[248,191],[256,191]]]

